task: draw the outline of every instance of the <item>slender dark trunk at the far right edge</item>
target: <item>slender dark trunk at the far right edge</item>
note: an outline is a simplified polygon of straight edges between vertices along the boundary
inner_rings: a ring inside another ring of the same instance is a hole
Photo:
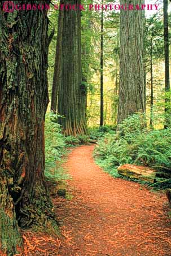
[[[164,127],[167,128],[170,122],[170,96],[167,94],[170,90],[168,0],[163,0],[163,16],[164,16],[164,57],[165,57],[165,124],[164,124]]]

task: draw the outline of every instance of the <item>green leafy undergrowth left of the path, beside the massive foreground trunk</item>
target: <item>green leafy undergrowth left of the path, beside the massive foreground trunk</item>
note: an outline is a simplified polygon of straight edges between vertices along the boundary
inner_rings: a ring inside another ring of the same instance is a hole
[[[52,112],[46,114],[45,122],[45,176],[46,180],[62,181],[69,178],[63,170],[62,163],[67,156],[69,147],[87,144],[89,136],[77,137],[62,134],[62,129],[57,122],[58,115]]]

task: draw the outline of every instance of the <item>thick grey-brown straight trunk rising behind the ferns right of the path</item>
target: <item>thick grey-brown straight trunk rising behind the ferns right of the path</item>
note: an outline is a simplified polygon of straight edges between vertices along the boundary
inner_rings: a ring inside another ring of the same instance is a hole
[[[121,5],[141,5],[142,0],[121,0]],[[120,90],[117,122],[144,112],[143,65],[144,11],[120,13]]]

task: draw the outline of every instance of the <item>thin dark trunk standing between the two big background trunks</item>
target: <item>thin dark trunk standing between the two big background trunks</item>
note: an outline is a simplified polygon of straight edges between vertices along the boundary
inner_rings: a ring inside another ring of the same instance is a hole
[[[103,5],[103,1],[102,1]],[[103,10],[101,14],[100,36],[100,126],[104,123],[104,96],[103,96]]]

